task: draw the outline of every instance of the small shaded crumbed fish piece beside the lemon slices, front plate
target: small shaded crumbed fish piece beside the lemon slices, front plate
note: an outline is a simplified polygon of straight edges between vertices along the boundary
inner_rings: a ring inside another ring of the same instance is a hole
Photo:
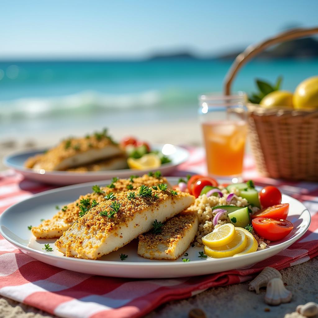
[[[139,235],[138,254],[149,259],[177,259],[189,247],[198,229],[197,213],[182,212],[168,220],[160,233]]]

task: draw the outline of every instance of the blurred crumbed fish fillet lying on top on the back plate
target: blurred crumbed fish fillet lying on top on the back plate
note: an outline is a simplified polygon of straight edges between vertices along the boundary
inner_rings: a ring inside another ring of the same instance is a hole
[[[97,160],[124,155],[123,150],[107,136],[107,131],[85,138],[70,138],[49,149],[43,155],[29,158],[25,167],[34,169],[66,170]]]

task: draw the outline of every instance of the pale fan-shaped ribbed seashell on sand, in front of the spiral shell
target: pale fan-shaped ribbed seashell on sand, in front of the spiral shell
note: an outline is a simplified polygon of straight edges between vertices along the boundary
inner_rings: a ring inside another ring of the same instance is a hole
[[[273,278],[268,282],[264,298],[266,304],[279,305],[282,302],[289,302],[291,299],[291,291],[285,288],[280,278]]]

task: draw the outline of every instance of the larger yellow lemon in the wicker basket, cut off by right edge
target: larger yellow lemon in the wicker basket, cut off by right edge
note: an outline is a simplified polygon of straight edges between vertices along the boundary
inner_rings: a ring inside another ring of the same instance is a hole
[[[318,76],[305,79],[296,87],[293,103],[295,109],[318,108]]]

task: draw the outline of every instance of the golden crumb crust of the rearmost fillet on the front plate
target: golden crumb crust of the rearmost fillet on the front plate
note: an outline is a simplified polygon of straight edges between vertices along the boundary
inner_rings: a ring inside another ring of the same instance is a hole
[[[118,179],[107,187],[100,187],[101,193],[92,192],[80,196],[74,202],[62,207],[62,209],[56,213],[53,218],[43,221],[39,226],[32,227],[31,231],[35,236],[39,237],[35,233],[41,230],[58,230],[60,220],[63,220],[65,223],[71,223],[70,225],[72,225],[79,217],[80,206],[83,205],[81,202],[84,202],[84,200],[89,200],[89,208],[93,200],[96,200],[98,203],[103,202],[106,200],[105,196],[109,195],[110,193],[116,194],[119,192],[128,191],[128,187],[130,186],[132,186],[132,190],[135,190],[142,184],[152,187],[158,185],[159,183],[168,183],[168,181],[165,177],[156,178],[154,176],[148,175],[135,177],[132,179],[132,181],[130,181],[130,179]],[[110,188],[110,186],[112,188]]]

